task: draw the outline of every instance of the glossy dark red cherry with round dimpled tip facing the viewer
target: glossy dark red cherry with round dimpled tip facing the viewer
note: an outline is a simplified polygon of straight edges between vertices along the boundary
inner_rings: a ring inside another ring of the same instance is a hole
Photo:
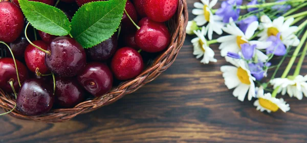
[[[112,88],[113,76],[107,65],[92,62],[78,75],[78,81],[93,96],[100,97]]]

